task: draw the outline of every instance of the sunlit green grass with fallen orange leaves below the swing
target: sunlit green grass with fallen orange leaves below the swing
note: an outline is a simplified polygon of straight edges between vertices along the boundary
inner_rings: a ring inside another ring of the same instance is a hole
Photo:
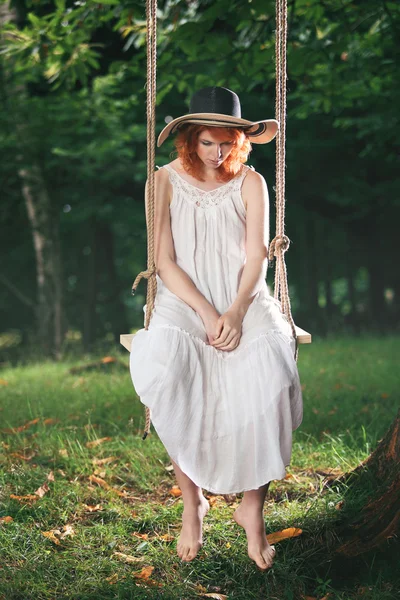
[[[228,502],[205,492],[212,508],[204,546],[193,562],[180,562],[182,500],[156,433],[141,439],[144,408],[127,353],[75,374],[71,367],[95,358],[5,365],[0,598],[397,598],[395,540],[357,560],[333,560],[337,505],[348,490],[325,484],[366,458],[394,418],[399,345],[386,337],[300,347],[304,419],[287,478],[270,486],[265,521],[267,533],[297,527],[302,534],[276,544],[266,573],[248,558],[244,532],[232,520],[241,494]]]

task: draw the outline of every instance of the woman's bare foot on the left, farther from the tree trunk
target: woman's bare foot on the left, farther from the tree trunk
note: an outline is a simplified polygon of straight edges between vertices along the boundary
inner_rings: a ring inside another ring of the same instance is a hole
[[[185,507],[182,514],[182,530],[178,539],[178,556],[189,562],[193,560],[203,544],[203,518],[208,513],[210,505],[202,496],[196,506]]]

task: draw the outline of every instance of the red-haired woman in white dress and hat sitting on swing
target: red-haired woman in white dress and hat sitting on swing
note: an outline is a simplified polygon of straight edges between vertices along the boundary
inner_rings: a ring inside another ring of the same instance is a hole
[[[178,157],[155,173],[157,295],[130,369],[182,490],[183,561],[202,545],[202,488],[244,492],[234,519],[250,558],[266,570],[275,553],[264,500],[269,482],[285,477],[302,394],[295,340],[265,281],[267,186],[244,163],[251,142],[277,131],[273,119],[242,119],[231,90],[209,87],[158,138],[178,132]]]

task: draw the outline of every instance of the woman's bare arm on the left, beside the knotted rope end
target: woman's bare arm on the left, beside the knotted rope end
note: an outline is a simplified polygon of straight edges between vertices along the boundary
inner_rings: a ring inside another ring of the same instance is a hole
[[[197,289],[189,275],[176,264],[175,248],[171,233],[169,203],[172,186],[168,171],[160,169],[154,173],[155,208],[154,208],[154,252],[156,270],[170,292],[186,302],[200,317],[203,317],[213,306]],[[147,220],[147,181],[145,187],[146,220]]]

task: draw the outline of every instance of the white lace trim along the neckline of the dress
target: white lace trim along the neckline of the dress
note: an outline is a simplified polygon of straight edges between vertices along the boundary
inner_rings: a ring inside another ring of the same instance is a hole
[[[164,165],[163,168],[167,169],[170,174],[171,183],[173,183],[178,190],[184,192],[185,197],[190,202],[199,208],[208,209],[219,206],[229,196],[232,189],[238,190],[244,175],[251,167],[248,167],[247,169],[242,167],[242,172],[239,175],[236,175],[236,177],[214,190],[202,190],[197,186],[192,185],[183,179],[183,177],[169,165]]]

